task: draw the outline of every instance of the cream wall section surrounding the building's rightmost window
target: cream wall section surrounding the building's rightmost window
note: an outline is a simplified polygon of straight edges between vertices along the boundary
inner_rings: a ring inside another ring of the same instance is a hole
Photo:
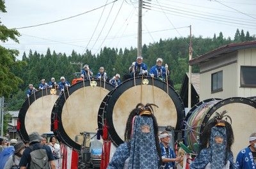
[[[255,87],[240,87],[241,66],[256,66],[256,48],[239,50],[237,59],[237,96],[244,98],[256,96]]]

